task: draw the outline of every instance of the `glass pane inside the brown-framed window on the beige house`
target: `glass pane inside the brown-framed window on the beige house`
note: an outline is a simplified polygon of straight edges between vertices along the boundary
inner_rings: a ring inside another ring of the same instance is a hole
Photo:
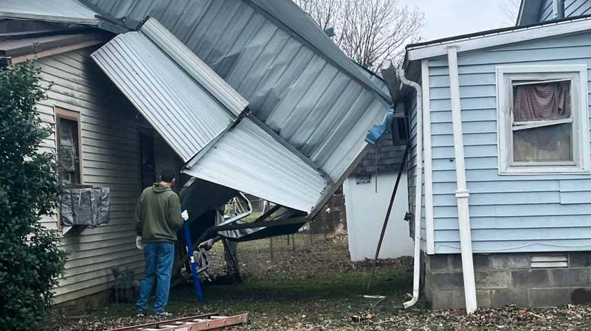
[[[58,167],[62,182],[80,184],[78,122],[59,118]]]

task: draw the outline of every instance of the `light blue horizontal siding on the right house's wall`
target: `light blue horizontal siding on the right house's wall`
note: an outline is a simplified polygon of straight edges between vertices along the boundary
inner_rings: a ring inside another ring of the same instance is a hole
[[[591,250],[591,175],[499,175],[497,65],[587,64],[591,33],[458,56],[473,249]],[[446,58],[429,61],[435,253],[459,253],[455,154]]]

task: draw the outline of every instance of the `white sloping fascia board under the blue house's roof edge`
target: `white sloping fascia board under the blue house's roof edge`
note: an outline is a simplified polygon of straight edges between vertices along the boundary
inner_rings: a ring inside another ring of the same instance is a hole
[[[530,41],[533,39],[548,38],[550,36],[560,36],[561,34],[583,32],[585,30],[591,30],[590,17],[573,21],[535,25],[528,28],[517,28],[517,30],[474,36],[468,39],[442,41],[441,43],[435,43],[433,45],[411,47],[407,50],[407,58],[408,61],[416,61],[423,58],[446,55],[450,45],[456,46],[457,52],[459,53],[510,43]]]

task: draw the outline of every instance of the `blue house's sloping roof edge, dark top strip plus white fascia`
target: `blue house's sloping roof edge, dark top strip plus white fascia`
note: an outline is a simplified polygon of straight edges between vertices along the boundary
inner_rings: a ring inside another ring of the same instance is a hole
[[[405,65],[408,65],[409,61],[445,55],[450,45],[457,47],[458,52],[466,52],[586,30],[591,30],[591,15],[486,30],[423,43],[414,43],[406,46]]]

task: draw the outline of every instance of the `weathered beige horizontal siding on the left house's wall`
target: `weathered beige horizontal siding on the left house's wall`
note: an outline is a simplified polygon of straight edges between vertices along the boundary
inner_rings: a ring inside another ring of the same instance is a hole
[[[55,288],[55,302],[92,295],[112,286],[110,268],[129,268],[139,277],[143,255],[135,248],[133,211],[140,189],[138,126],[143,118],[100,72],[87,48],[41,58],[43,86],[51,83],[48,99],[37,109],[47,125],[54,125],[54,106],[81,114],[83,183],[111,189],[111,219],[96,228],[72,229],[60,239],[69,253],[65,273]],[[143,125],[142,125],[143,126]],[[163,140],[155,139],[156,164],[174,164],[176,156]],[[43,147],[55,150],[55,137]],[[58,228],[55,217],[43,217],[48,229]]]

